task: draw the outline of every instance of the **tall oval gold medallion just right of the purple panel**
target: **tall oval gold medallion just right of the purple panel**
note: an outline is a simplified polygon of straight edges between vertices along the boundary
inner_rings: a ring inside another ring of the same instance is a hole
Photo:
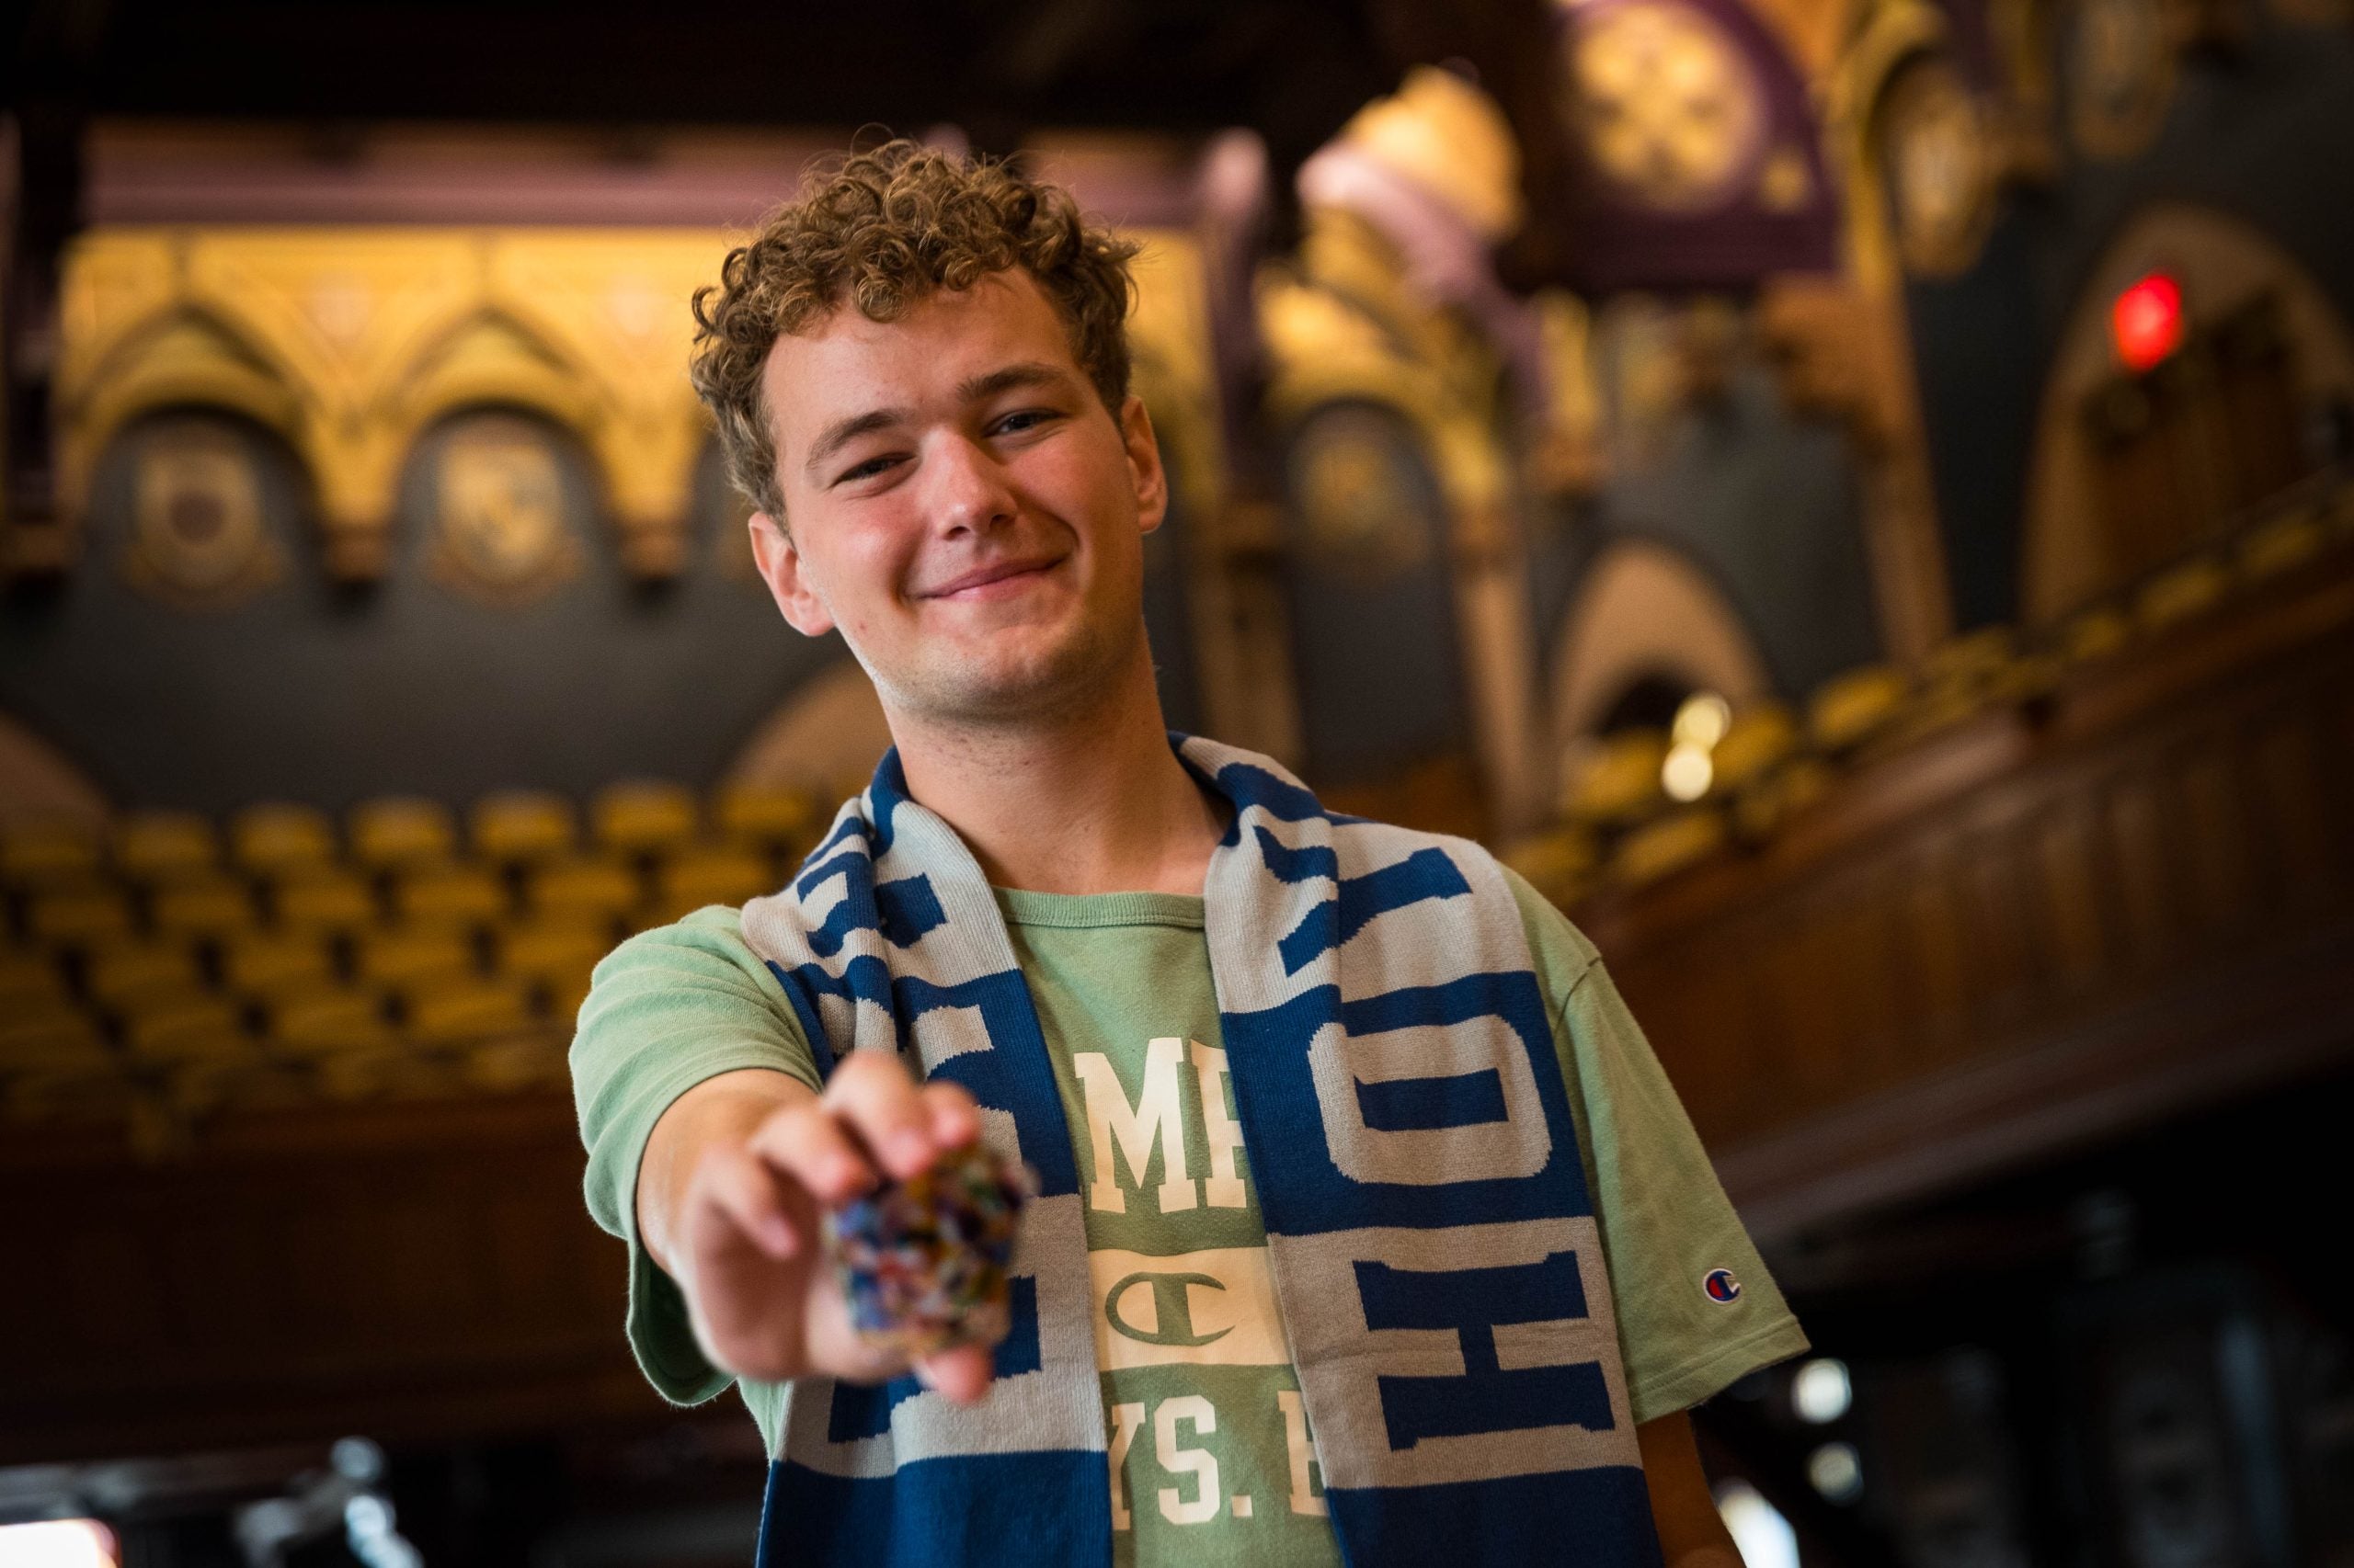
[[[1881,101],[1881,170],[1904,266],[1966,273],[1994,226],[1994,127],[1951,61],[1907,66]]]

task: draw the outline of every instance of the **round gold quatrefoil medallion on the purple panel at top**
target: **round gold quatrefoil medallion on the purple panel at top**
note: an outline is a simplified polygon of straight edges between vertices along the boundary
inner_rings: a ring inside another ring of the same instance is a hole
[[[1766,134],[1766,97],[1740,45],[1676,0],[1629,0],[1568,31],[1577,134],[1624,193],[1669,212],[1744,188]]]

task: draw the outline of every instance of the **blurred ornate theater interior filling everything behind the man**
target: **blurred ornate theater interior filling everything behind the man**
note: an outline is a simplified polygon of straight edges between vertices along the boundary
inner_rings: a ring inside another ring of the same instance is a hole
[[[1601,944],[1754,1568],[2354,1563],[2345,0],[7,26],[0,1563],[744,1561],[563,1048],[887,742],[683,374],[873,127],[1142,240],[1170,720]]]

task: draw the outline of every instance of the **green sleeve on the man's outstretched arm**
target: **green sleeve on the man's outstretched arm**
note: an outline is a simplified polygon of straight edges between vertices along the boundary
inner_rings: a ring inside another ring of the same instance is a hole
[[[591,1217],[629,1243],[629,1347],[673,1403],[711,1398],[732,1377],[704,1358],[678,1285],[638,1238],[638,1163],[671,1102],[746,1067],[819,1088],[793,1005],[744,944],[734,909],[640,932],[596,965],[572,1034],[584,1189]]]

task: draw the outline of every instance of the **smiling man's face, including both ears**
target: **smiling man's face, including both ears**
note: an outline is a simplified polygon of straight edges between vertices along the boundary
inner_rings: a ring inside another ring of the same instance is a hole
[[[1137,657],[1161,457],[1029,273],[892,323],[838,308],[777,341],[763,388],[791,534],[753,518],[760,574],[798,631],[840,626],[890,709],[1069,711]]]

